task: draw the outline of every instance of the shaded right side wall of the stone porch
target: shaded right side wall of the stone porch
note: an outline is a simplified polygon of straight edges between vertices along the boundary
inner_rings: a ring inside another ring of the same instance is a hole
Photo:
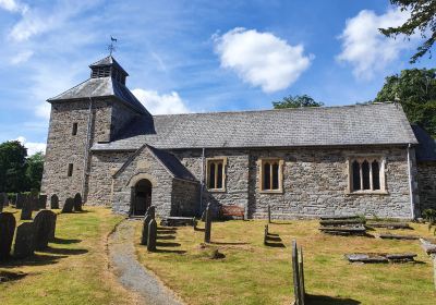
[[[199,184],[174,179],[172,182],[171,206],[171,216],[198,216]]]

